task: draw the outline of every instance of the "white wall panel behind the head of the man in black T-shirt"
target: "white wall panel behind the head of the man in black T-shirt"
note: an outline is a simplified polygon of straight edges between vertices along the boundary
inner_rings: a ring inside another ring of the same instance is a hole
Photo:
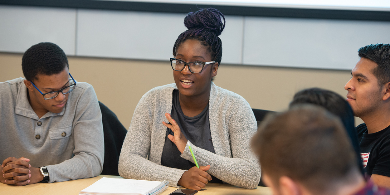
[[[243,64],[352,69],[357,50],[390,43],[390,22],[246,17]]]

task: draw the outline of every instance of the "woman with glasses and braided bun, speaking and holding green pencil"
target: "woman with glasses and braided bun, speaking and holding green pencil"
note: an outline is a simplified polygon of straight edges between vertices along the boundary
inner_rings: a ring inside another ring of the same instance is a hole
[[[261,171],[249,142],[257,124],[245,99],[213,82],[225,18],[200,9],[184,19],[170,59],[175,83],[147,92],[135,109],[119,174],[201,190],[208,182],[253,189]],[[199,164],[191,155],[189,146]]]

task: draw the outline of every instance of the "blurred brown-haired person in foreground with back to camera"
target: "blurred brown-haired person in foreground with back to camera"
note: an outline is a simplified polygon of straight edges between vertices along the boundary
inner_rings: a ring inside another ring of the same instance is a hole
[[[315,105],[268,115],[252,139],[274,195],[390,195],[365,182],[339,117]]]

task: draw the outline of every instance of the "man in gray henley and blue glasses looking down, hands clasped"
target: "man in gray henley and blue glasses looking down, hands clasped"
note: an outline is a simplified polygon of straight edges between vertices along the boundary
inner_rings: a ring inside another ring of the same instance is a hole
[[[22,186],[94,177],[104,159],[92,85],[76,82],[53,43],[23,55],[25,78],[0,82],[0,182]]]

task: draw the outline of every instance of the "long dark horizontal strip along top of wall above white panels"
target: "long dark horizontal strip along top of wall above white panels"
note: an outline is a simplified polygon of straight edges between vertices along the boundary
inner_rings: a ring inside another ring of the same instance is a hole
[[[266,16],[283,18],[317,18],[338,20],[390,21],[390,11],[354,11],[331,9],[297,9],[278,7],[246,7],[229,5],[169,4],[100,0],[0,0],[0,5],[65,7],[122,11],[188,13],[199,8],[214,7],[225,15]]]

